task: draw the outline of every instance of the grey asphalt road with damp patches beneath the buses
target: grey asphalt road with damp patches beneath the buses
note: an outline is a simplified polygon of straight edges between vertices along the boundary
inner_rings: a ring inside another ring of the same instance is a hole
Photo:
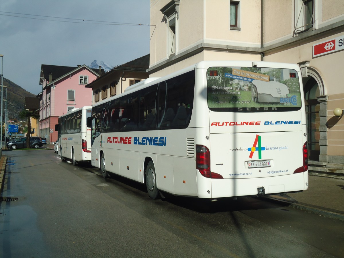
[[[3,154],[0,257],[344,257],[344,222],[286,204],[151,200],[144,185],[53,150]]]

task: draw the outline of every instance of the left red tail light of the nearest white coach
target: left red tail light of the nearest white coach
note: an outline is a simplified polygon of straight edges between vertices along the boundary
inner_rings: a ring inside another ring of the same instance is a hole
[[[223,176],[210,171],[210,151],[204,145],[196,145],[196,169],[205,178],[223,179]]]

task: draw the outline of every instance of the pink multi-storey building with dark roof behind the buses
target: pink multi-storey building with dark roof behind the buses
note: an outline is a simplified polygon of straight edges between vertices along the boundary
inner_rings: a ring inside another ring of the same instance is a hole
[[[92,104],[92,89],[85,85],[105,74],[104,70],[91,69],[86,65],[77,67],[41,66],[39,136],[47,138],[47,143],[57,140],[55,125],[59,116],[68,110]]]

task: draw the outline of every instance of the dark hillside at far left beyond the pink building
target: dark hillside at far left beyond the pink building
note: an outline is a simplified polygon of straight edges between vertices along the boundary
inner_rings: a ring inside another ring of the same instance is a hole
[[[18,114],[24,109],[25,97],[36,97],[19,85],[3,77],[3,86],[7,86],[7,111],[9,120],[19,119]],[[1,87],[1,86],[0,86]],[[0,88],[1,89],[1,88]],[[3,98],[6,96],[6,88],[3,89]],[[5,101],[3,101],[3,116],[5,116]]]

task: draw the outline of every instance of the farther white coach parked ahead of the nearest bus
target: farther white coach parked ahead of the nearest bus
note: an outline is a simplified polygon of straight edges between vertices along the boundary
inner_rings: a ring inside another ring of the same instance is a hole
[[[91,128],[87,128],[87,117],[91,106],[74,108],[58,118],[58,154],[61,160],[72,159],[73,165],[91,160]]]

